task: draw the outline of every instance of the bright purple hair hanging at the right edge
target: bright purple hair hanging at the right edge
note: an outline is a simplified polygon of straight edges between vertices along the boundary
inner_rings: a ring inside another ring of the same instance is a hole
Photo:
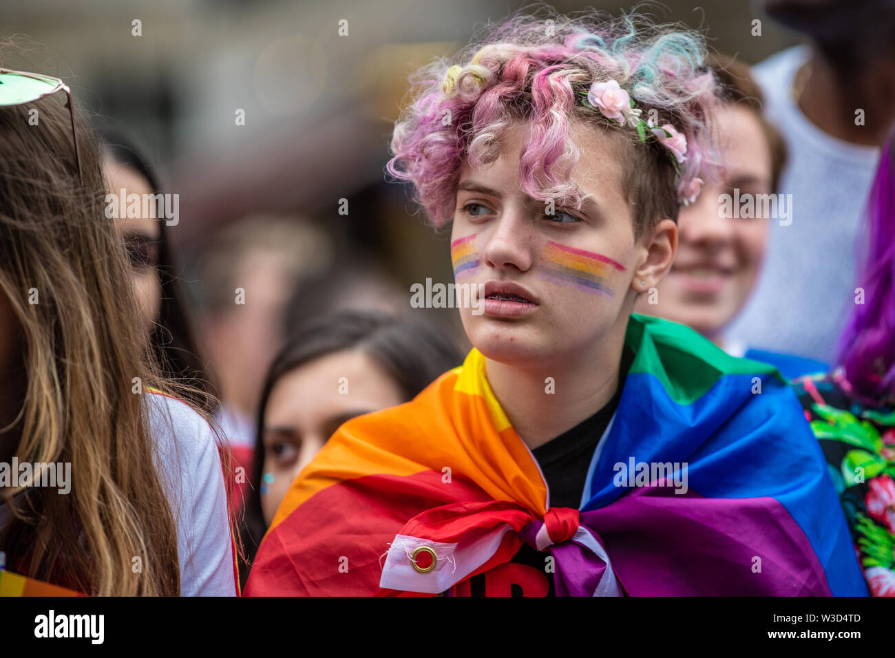
[[[867,201],[869,250],[856,304],[840,339],[840,363],[861,397],[895,395],[895,132],[882,149]]]

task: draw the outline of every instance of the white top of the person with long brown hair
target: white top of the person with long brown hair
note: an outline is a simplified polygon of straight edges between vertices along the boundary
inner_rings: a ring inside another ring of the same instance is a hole
[[[158,473],[177,526],[182,596],[235,596],[233,539],[217,440],[180,400],[144,393],[158,440]],[[10,516],[0,505],[0,528]],[[2,547],[0,547],[2,548]]]

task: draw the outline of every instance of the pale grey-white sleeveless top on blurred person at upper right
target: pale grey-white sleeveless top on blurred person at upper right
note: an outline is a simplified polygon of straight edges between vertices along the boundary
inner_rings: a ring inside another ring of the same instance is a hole
[[[762,272],[727,338],[832,363],[855,300],[880,150],[831,137],[802,114],[792,84],[808,54],[792,47],[754,67],[765,113],[789,151],[778,192],[792,195],[792,223],[770,219]]]

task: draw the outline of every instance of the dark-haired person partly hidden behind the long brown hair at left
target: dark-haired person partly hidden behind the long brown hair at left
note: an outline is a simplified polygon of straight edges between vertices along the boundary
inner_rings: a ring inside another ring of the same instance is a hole
[[[158,194],[161,184],[149,160],[121,132],[98,130],[103,150],[103,173],[112,194]],[[141,326],[150,337],[158,363],[168,379],[182,380],[196,389],[192,402],[215,412],[214,386],[195,338],[189,299],[180,278],[183,262],[171,244],[164,218],[115,217],[124,237],[131,280],[140,303]]]

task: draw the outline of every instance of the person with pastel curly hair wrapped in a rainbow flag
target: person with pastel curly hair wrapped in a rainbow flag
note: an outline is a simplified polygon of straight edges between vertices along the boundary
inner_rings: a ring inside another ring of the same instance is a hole
[[[866,594],[780,373],[632,313],[717,175],[705,56],[548,11],[416,76],[388,172],[450,226],[473,349],[333,434],[247,595]]]

